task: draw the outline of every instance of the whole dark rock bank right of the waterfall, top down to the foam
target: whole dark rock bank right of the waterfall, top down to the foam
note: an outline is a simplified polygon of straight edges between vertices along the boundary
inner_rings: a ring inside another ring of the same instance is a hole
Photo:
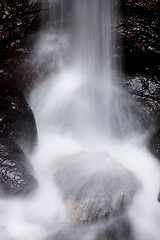
[[[138,118],[150,130],[149,148],[160,158],[160,1],[121,3],[120,35],[124,47],[123,85],[137,99]]]

